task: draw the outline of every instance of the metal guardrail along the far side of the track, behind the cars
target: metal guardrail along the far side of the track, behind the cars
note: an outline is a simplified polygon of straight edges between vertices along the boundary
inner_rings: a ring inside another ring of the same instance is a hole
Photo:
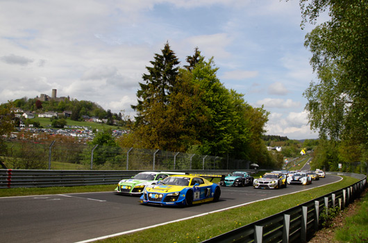
[[[173,171],[173,170],[170,170]],[[228,174],[228,170],[174,170],[195,174]],[[252,170],[248,170],[252,171]],[[56,187],[77,185],[117,184],[122,178],[131,178],[142,170],[94,171],[94,170],[35,170],[0,169],[0,189],[14,187]]]

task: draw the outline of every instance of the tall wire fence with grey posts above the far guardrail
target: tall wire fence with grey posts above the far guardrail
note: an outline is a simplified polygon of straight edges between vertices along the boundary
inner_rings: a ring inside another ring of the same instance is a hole
[[[4,169],[254,169],[249,160],[55,141],[8,141],[0,156]]]

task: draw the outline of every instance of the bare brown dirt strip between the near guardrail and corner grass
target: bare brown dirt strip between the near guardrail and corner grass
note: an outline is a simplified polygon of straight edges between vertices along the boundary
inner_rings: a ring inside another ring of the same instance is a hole
[[[367,193],[367,188],[362,193],[361,197],[363,197]],[[348,207],[344,208],[336,217],[333,219],[333,224],[329,228],[322,228],[320,231],[317,231],[309,243],[339,243],[339,241],[335,240],[335,231],[338,228],[342,228],[345,224],[345,218],[351,217],[355,215],[359,210],[358,202],[359,199],[356,199],[353,203],[350,203]]]

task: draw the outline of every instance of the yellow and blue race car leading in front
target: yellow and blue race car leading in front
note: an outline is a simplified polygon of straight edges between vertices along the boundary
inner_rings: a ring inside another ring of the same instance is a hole
[[[191,206],[194,203],[219,201],[220,195],[219,185],[205,178],[176,175],[168,176],[159,181],[157,185],[147,185],[140,197],[140,202],[167,206]]]

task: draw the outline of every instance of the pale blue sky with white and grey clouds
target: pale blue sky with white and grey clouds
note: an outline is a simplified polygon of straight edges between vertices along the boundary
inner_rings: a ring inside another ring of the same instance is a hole
[[[267,135],[313,139],[303,92],[315,80],[299,0],[0,0],[0,103],[40,94],[134,116],[139,83],[169,42],[213,57],[226,88],[270,112]]]

